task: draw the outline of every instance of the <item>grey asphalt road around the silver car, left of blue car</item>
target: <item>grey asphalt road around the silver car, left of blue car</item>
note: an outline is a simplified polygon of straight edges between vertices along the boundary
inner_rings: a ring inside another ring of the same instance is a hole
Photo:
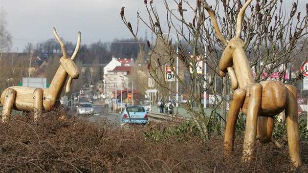
[[[80,102],[88,102],[88,100],[85,98],[80,98]],[[108,120],[110,121],[110,123],[115,123],[117,125],[120,125],[120,114],[119,113],[110,112],[110,108],[105,108],[98,101],[94,101],[93,106],[95,107],[93,116],[88,116],[88,115],[78,116],[78,118],[87,119],[89,122],[99,123],[99,124],[103,124],[106,122],[106,120]],[[72,109],[69,109],[66,112],[66,114],[68,116],[76,116],[77,115],[76,107],[74,108],[73,106]]]

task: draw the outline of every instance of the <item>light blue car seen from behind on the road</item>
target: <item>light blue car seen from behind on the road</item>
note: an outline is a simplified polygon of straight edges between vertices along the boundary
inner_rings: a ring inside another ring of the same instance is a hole
[[[127,106],[127,108],[129,114],[124,108],[120,118],[121,123],[146,124],[148,122],[148,114],[143,106]]]

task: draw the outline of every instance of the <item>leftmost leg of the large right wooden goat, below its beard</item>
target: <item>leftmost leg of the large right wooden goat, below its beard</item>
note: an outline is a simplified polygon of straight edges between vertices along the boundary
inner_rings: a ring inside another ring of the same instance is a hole
[[[233,150],[236,121],[238,119],[238,115],[242,107],[242,103],[245,99],[245,96],[246,96],[245,89],[239,88],[234,91],[233,101],[231,102],[230,105],[228,120],[226,124],[226,131],[224,136],[224,152],[226,154],[229,154]]]

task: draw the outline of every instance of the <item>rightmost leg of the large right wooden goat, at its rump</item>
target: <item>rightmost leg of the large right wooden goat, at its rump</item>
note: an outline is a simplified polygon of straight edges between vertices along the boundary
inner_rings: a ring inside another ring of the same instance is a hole
[[[286,106],[286,133],[289,147],[289,156],[293,164],[298,167],[302,165],[299,128],[297,112],[297,92],[295,86],[286,85],[288,103]]]

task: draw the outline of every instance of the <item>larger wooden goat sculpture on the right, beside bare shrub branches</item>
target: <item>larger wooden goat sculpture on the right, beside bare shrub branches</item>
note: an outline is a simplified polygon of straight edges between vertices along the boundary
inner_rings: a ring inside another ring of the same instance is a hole
[[[274,116],[286,111],[286,131],[289,156],[295,166],[301,165],[299,150],[299,128],[297,115],[297,91],[294,86],[284,85],[279,81],[255,83],[248,63],[244,43],[241,37],[242,16],[252,0],[247,0],[239,12],[235,38],[227,41],[221,34],[212,9],[205,5],[218,38],[226,45],[220,59],[220,75],[228,72],[231,86],[235,89],[226,124],[224,148],[225,153],[233,150],[235,126],[240,109],[246,115],[246,128],[243,144],[243,161],[251,160],[255,141],[275,142],[272,138]],[[232,69],[234,66],[234,71]],[[279,144],[276,143],[277,146]]]

